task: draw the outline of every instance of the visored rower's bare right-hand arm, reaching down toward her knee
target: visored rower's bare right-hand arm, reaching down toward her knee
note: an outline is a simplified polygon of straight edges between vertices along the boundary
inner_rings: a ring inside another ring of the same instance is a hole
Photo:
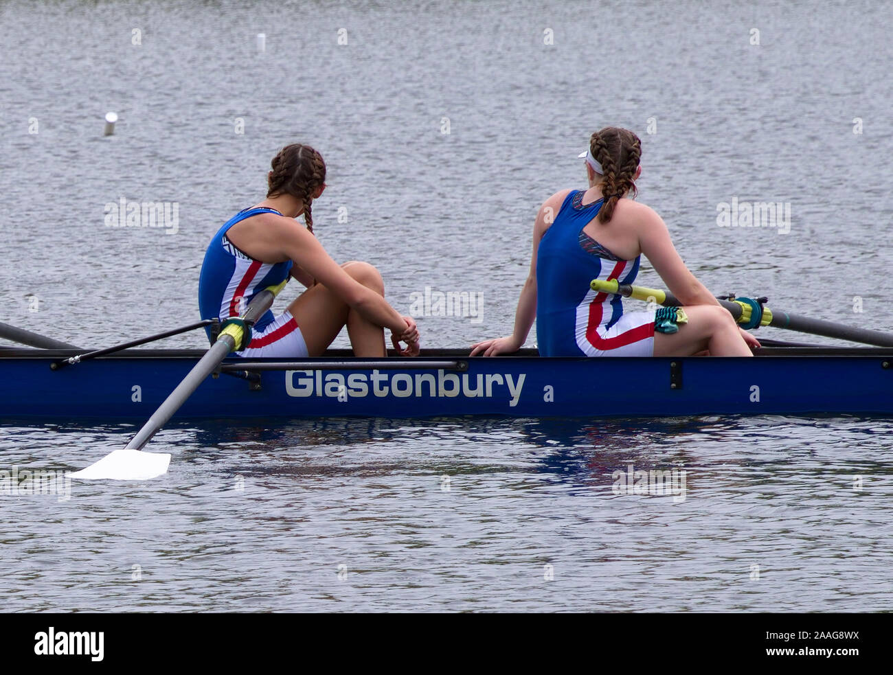
[[[639,246],[670,292],[682,304],[719,304],[704,284],[689,271],[685,262],[682,262],[663,218],[644,204],[637,205],[642,210],[638,219]]]

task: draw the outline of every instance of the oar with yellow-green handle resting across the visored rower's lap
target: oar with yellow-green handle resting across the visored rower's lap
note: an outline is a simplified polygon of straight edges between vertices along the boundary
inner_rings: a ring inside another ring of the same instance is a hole
[[[600,293],[613,293],[623,297],[632,297],[637,300],[663,304],[664,307],[680,307],[682,303],[672,293],[657,288],[642,286],[630,286],[630,284],[618,283],[617,279],[599,281],[592,279],[589,284],[592,290]],[[720,300],[731,315],[741,324],[742,328],[752,329],[757,326],[772,326],[773,328],[797,330],[801,333],[821,335],[824,337],[836,337],[850,342],[861,342],[866,345],[893,346],[893,335],[882,333],[880,330],[857,329],[842,323],[824,321],[823,319],[809,319],[805,316],[771,310],[763,305],[765,298],[760,301],[749,297],[740,297],[735,300]]]

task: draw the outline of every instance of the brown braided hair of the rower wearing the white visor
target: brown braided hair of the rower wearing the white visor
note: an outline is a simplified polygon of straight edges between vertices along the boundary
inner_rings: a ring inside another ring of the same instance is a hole
[[[607,222],[613,216],[614,207],[622,196],[638,191],[633,182],[642,156],[642,142],[629,129],[605,127],[589,137],[589,152],[602,165],[602,198],[605,200],[598,212],[598,221]]]

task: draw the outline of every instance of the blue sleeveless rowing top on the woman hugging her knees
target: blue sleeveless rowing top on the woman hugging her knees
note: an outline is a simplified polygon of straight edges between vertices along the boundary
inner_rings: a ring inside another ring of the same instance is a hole
[[[258,213],[277,213],[274,209],[245,209],[224,223],[211,239],[204,253],[202,272],[198,278],[198,308],[202,319],[228,319],[245,312],[251,298],[268,286],[276,286],[291,271],[292,262],[261,262],[240,251],[230,242],[227,231],[239,221]],[[267,310],[255,324],[256,330],[273,321],[273,312]],[[210,327],[205,327],[211,339]]]

